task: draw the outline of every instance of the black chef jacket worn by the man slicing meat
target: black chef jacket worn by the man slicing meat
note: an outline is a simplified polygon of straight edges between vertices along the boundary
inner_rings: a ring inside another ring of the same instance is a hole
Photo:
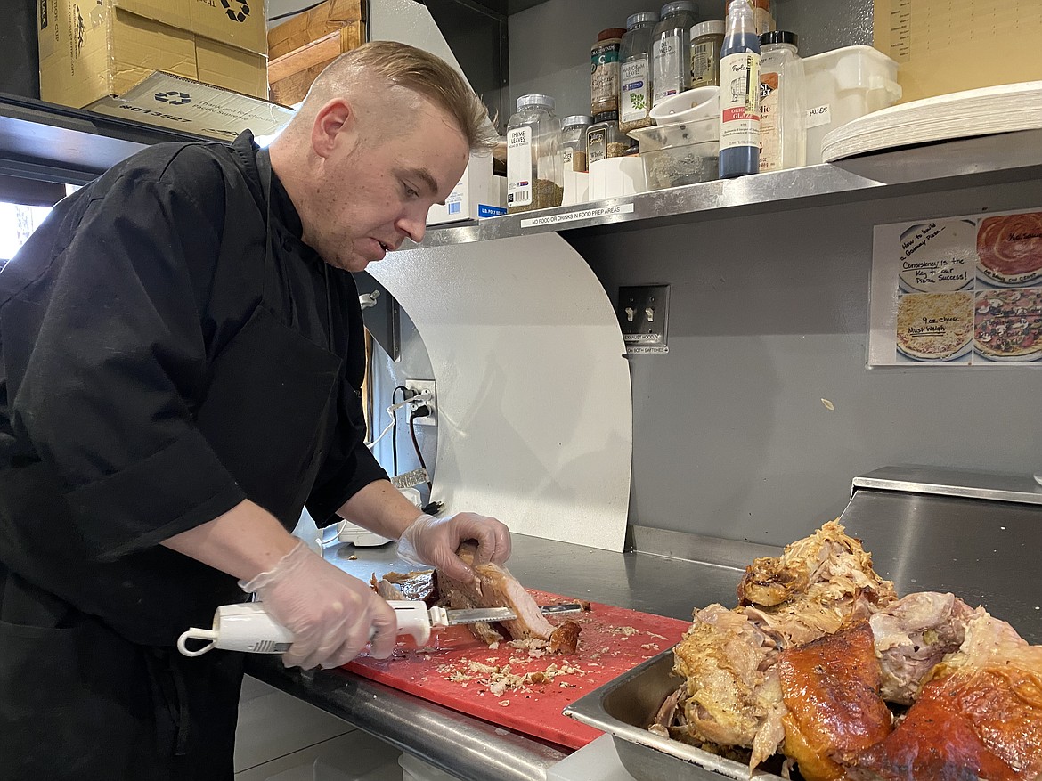
[[[134,643],[208,626],[242,593],[160,540],[246,498],[325,525],[387,477],[363,344],[249,133],[117,165],[0,272],[0,564]]]

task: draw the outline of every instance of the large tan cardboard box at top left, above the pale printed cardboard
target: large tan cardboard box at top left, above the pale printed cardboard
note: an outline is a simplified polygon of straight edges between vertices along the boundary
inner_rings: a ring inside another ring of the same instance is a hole
[[[40,0],[40,94],[75,108],[156,71],[268,96],[264,0]]]

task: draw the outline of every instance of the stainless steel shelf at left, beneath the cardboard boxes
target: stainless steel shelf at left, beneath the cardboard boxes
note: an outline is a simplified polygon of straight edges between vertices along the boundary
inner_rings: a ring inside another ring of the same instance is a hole
[[[85,184],[146,146],[200,138],[0,94],[0,174],[8,176]]]

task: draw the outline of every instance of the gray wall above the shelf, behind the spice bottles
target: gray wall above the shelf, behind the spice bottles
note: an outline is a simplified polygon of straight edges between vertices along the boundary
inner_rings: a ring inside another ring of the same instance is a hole
[[[696,0],[700,20],[723,19],[723,0]],[[659,0],[549,0],[510,18],[510,105],[552,95],[557,116],[590,111],[590,47],[597,32],[658,10]],[[800,35],[804,56],[872,42],[871,0],[775,0],[778,26]]]

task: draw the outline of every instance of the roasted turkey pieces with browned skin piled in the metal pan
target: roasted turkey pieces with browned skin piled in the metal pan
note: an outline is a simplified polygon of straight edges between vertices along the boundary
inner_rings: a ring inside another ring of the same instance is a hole
[[[807,781],[1042,781],[1042,647],[951,594],[898,600],[837,522],[696,609],[649,729]],[[904,706],[911,706],[904,711]]]

